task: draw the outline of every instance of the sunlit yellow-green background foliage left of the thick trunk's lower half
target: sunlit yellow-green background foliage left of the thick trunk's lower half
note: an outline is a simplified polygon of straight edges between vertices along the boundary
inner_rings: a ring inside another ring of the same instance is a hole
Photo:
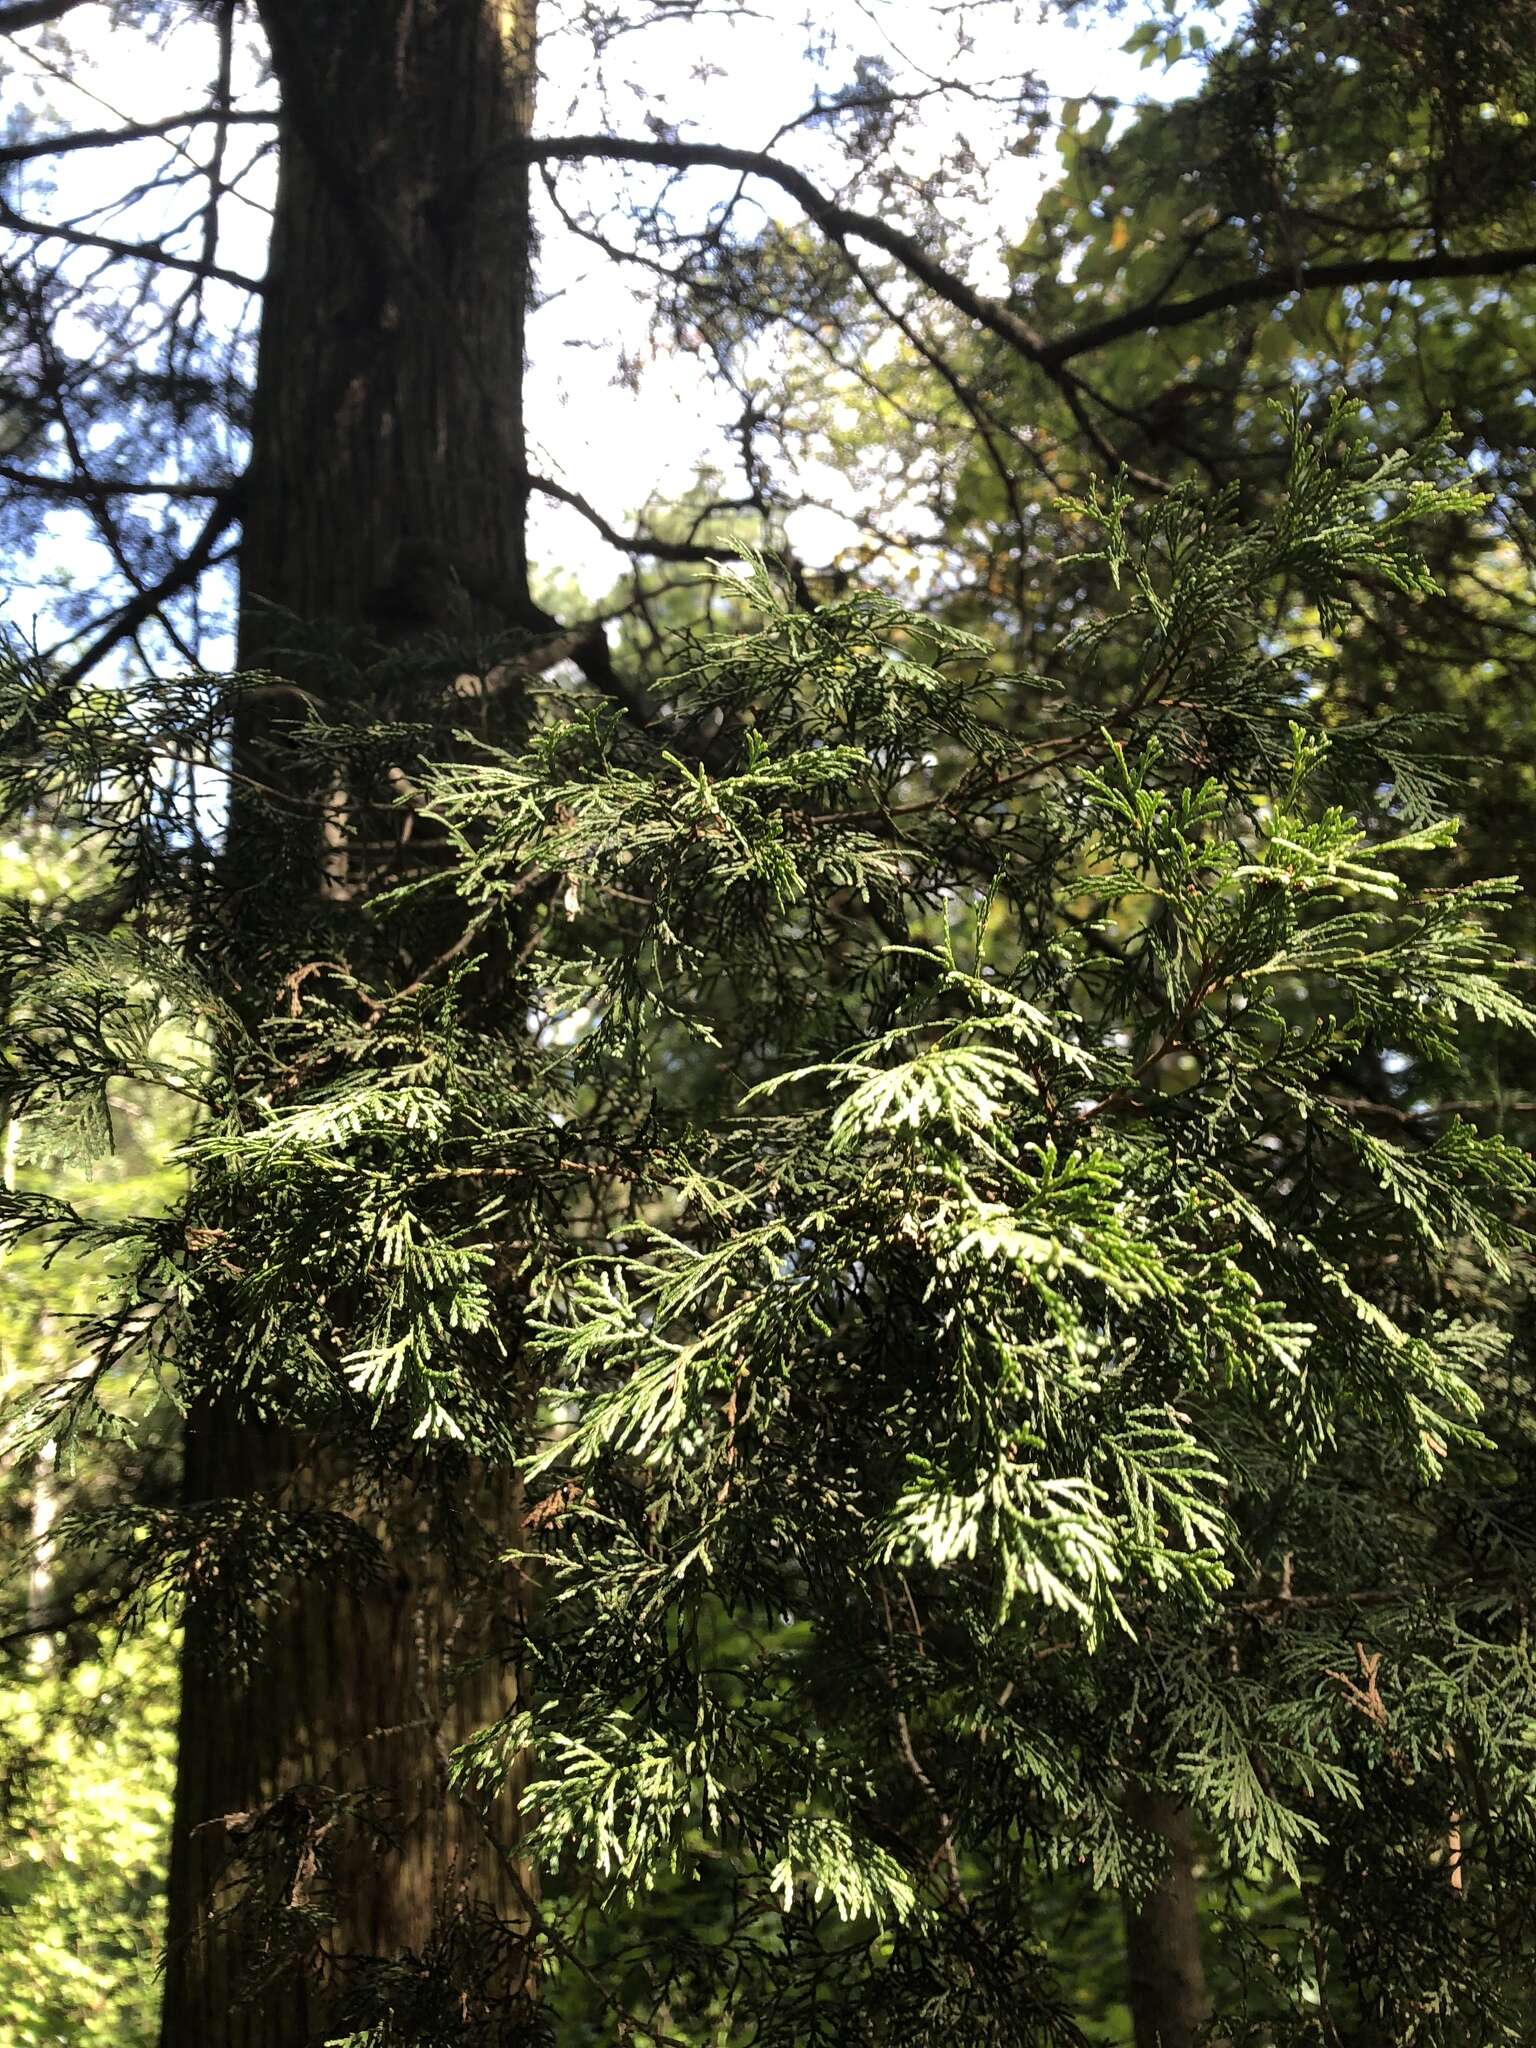
[[[68,915],[88,889],[90,848],[43,819],[14,821],[0,846],[0,903]],[[53,1128],[53,1149],[6,1116],[6,1190],[68,1188],[109,1233],[176,1196],[162,1165],[184,1118],[150,1090],[125,1085],[109,1104],[113,1151],[100,1130]],[[25,1159],[31,1153],[31,1161]],[[41,1157],[39,1157],[41,1153]],[[98,1245],[45,1260],[6,1260],[0,1378],[14,1413],[66,1378],[80,1327],[115,1286]],[[102,1444],[78,1466],[47,1444],[16,1444],[0,1464],[6,1608],[0,1622],[0,1903],[14,1960],[0,1997],[6,2048],[70,2038],[147,2044],[160,1987],[156,1923],[166,1880],[166,1819],[174,1776],[176,1655],[164,1622],[113,1645],[125,1587],[68,1540],[72,1513],[106,1499],[168,1499],[172,1432],[166,1403],[123,1382],[115,1401],[129,1442]],[[14,1604],[12,1604],[14,1602]]]

